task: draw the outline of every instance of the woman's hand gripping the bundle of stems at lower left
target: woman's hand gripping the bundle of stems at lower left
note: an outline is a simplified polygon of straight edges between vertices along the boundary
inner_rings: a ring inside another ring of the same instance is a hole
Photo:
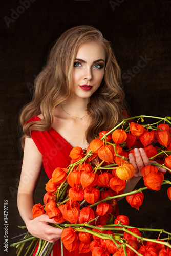
[[[62,229],[52,227],[49,223],[57,224],[53,219],[49,219],[48,215],[43,214],[29,220],[26,226],[32,236],[54,243],[60,239]]]

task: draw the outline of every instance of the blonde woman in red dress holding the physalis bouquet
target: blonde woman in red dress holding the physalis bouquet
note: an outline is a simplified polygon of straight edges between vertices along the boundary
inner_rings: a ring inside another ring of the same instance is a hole
[[[70,164],[68,155],[74,146],[87,148],[100,131],[112,129],[123,119],[120,78],[110,42],[94,27],[71,28],[53,46],[47,65],[35,80],[33,99],[20,117],[25,146],[18,209],[33,236],[49,242],[61,236],[60,229],[49,225],[56,222],[47,215],[32,219],[33,193],[42,163],[51,178],[56,167]],[[134,188],[141,168],[149,164],[143,149],[135,150],[135,155],[137,164],[129,155],[135,176],[125,191]],[[60,255],[55,246],[54,255]],[[65,251],[65,255],[78,255],[78,251]]]

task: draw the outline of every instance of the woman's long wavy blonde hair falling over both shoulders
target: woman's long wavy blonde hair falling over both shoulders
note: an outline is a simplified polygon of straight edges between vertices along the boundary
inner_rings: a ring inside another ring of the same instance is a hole
[[[76,26],[64,32],[52,47],[46,66],[34,81],[34,93],[30,103],[20,114],[24,136],[29,131],[46,131],[52,127],[53,113],[57,105],[66,103],[72,96],[73,68],[79,47],[88,42],[100,42],[105,50],[104,77],[98,90],[90,97],[87,111],[92,118],[86,139],[90,143],[99,132],[110,130],[123,119],[124,93],[120,87],[121,71],[111,44],[92,26]],[[33,115],[41,114],[43,120],[26,123]]]

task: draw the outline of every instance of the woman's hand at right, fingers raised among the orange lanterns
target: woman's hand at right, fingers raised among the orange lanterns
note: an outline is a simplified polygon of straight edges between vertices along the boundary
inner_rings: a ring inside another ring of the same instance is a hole
[[[145,153],[145,151],[143,150],[143,148],[134,148],[134,153],[135,153],[135,158],[132,153],[129,154],[129,159],[130,159],[130,163],[133,164],[134,169],[135,169],[135,177],[138,176],[142,176],[141,174],[141,169],[144,166],[149,165],[150,163],[157,163],[156,161],[150,161]],[[157,166],[157,168],[159,168],[159,166]],[[166,169],[160,167],[160,172],[165,173]]]

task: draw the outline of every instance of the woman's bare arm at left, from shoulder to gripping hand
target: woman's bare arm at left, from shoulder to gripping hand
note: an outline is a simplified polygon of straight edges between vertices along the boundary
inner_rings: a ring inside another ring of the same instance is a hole
[[[32,207],[34,205],[33,194],[39,181],[41,168],[42,156],[34,141],[31,138],[26,138],[22,173],[18,187],[18,210],[28,231],[33,236],[53,243],[60,238],[62,231],[59,228],[49,225],[49,223],[56,222],[53,219],[49,219],[48,215],[45,214],[32,219]]]

